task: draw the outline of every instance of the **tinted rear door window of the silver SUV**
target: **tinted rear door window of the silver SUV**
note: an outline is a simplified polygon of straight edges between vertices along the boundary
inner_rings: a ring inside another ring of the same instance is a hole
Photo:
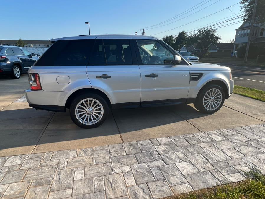
[[[103,41],[96,40],[89,65],[106,64],[133,64],[129,39],[104,39]]]

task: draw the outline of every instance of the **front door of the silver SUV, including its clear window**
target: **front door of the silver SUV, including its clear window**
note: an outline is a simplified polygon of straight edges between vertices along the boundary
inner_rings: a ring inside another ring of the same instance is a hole
[[[189,92],[187,63],[171,64],[174,52],[159,40],[144,38],[136,42],[142,80],[141,104],[186,101]]]

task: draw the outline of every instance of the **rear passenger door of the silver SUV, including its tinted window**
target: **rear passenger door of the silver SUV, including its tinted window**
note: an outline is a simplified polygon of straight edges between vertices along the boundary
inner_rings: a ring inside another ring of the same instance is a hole
[[[97,37],[86,71],[92,88],[107,94],[114,107],[140,105],[140,69],[132,37]]]

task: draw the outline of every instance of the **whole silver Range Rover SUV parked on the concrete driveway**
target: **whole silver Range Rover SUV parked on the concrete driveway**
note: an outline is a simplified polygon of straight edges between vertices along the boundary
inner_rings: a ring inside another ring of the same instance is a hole
[[[29,69],[29,106],[65,112],[94,128],[109,109],[194,103],[201,112],[219,110],[233,92],[228,67],[188,63],[156,37],[81,35],[52,40]]]

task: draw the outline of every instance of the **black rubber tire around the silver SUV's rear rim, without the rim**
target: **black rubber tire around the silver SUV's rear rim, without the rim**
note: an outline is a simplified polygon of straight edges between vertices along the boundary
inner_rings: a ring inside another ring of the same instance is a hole
[[[86,125],[86,124],[82,124],[78,121],[78,119],[76,118],[76,115],[75,115],[75,108],[76,108],[76,105],[83,99],[86,99],[86,98],[94,98],[96,100],[98,100],[102,106],[103,106],[103,110],[104,110],[104,114],[103,114],[103,117],[101,118],[101,120],[95,124],[92,124],[92,125]],[[108,107],[108,104],[106,102],[106,100],[97,95],[97,94],[82,94],[76,98],[73,99],[71,105],[70,105],[70,117],[72,119],[72,121],[79,127],[81,128],[96,128],[98,126],[100,126],[102,123],[104,123],[104,121],[107,119],[108,117],[108,114],[109,114],[109,107]]]

